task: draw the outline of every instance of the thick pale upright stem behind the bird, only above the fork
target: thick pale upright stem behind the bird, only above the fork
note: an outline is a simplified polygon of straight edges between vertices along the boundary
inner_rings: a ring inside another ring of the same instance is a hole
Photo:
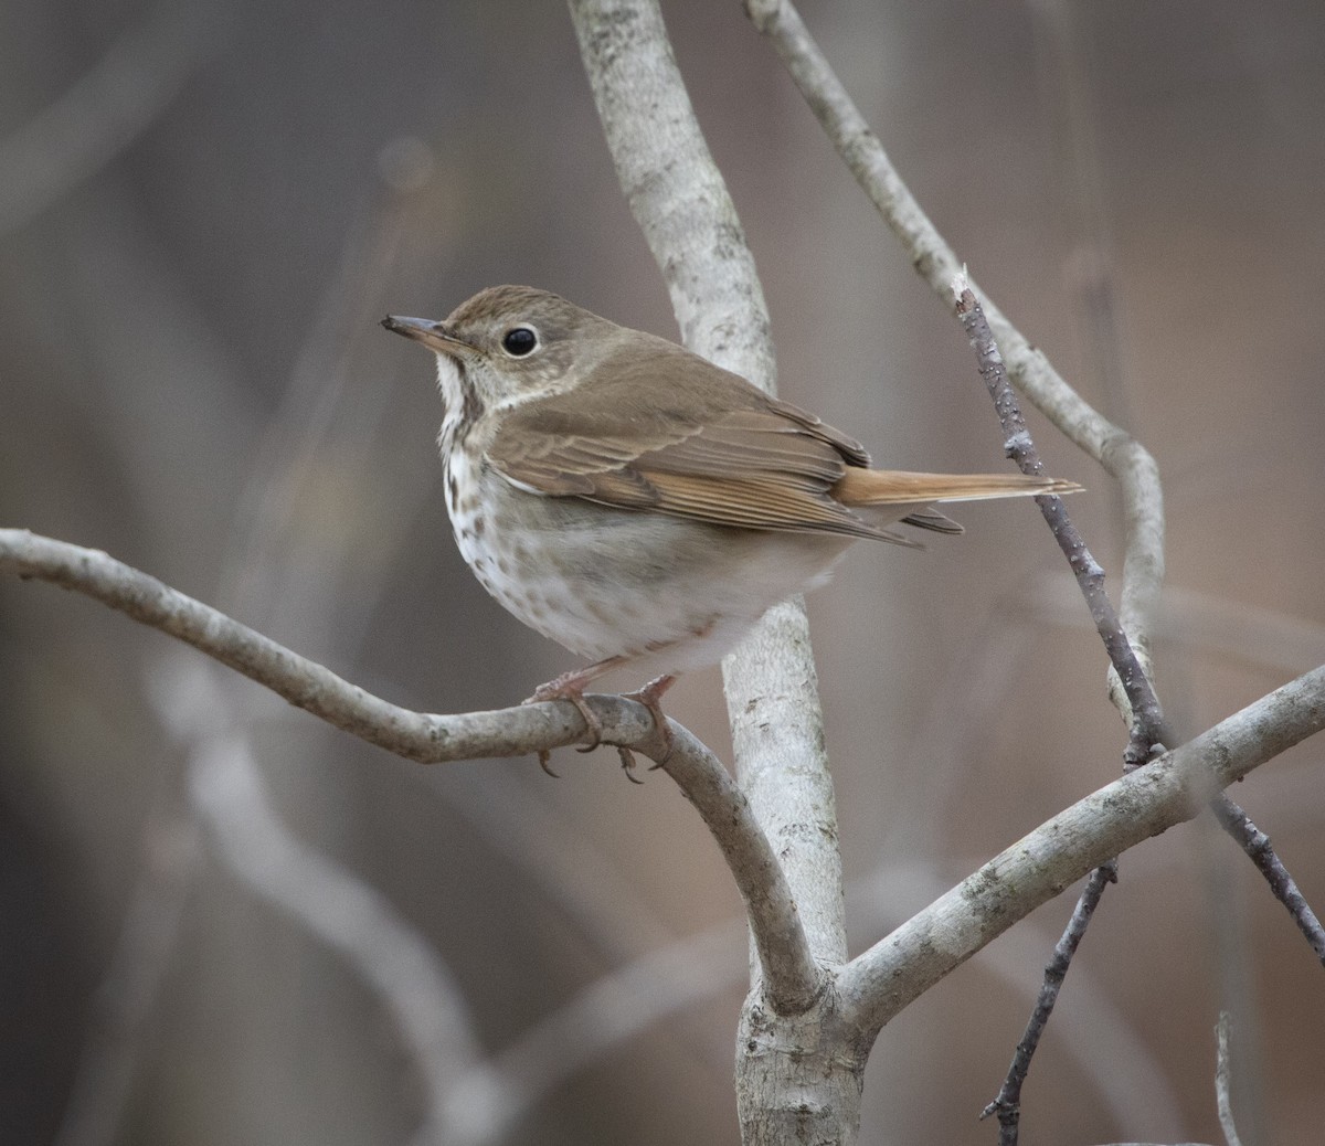
[[[686,346],[771,392],[776,371],[754,258],[657,4],[571,0],[570,9],[621,189]],[[782,957],[799,975],[780,986],[768,976],[766,991],[774,1011],[796,1014],[819,994],[815,958],[847,957],[832,779],[800,600],[770,609],[723,676],[742,786],[768,836],[795,841],[782,859],[808,939]]]

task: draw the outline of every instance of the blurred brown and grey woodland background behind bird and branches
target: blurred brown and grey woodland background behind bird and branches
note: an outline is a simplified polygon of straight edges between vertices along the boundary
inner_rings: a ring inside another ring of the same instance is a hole
[[[980,284],[1157,456],[1177,725],[1325,661],[1325,8],[804,16]],[[888,464],[1002,465],[961,329],[739,5],[666,17],[763,274],[782,393]],[[570,662],[464,568],[431,363],[376,326],[504,281],[674,334],[560,5],[0,8],[0,523],[106,548],[396,702],[517,701]],[[1089,486],[1072,511],[1116,591],[1116,490],[1034,425]],[[921,554],[859,546],[811,603],[853,950],[1120,768],[1104,657],[1036,514],[959,517],[967,537]],[[575,1063],[498,1141],[737,1141],[738,902],[664,776],[628,784],[610,751],[556,754],[559,782],[531,759],[421,770],[42,584],[0,583],[0,1141],[411,1141],[437,1090],[408,1000],[387,1002],[401,980],[368,970],[383,919],[431,953],[423,979],[449,978],[481,1052],[519,1077]],[[673,697],[729,753],[717,672]],[[236,743],[253,768],[215,751]],[[1321,751],[1234,794],[1317,909]],[[1069,909],[884,1031],[861,1142],[995,1141],[975,1116]],[[329,939],[342,918],[367,934]],[[688,1007],[602,1037],[648,995],[631,988],[594,1012],[583,1063],[583,1032],[530,1037],[606,971],[710,927],[719,954],[680,963]],[[1321,968],[1198,823],[1124,861],[1023,1142],[1216,1141],[1220,1007],[1244,1141],[1320,1142]]]

